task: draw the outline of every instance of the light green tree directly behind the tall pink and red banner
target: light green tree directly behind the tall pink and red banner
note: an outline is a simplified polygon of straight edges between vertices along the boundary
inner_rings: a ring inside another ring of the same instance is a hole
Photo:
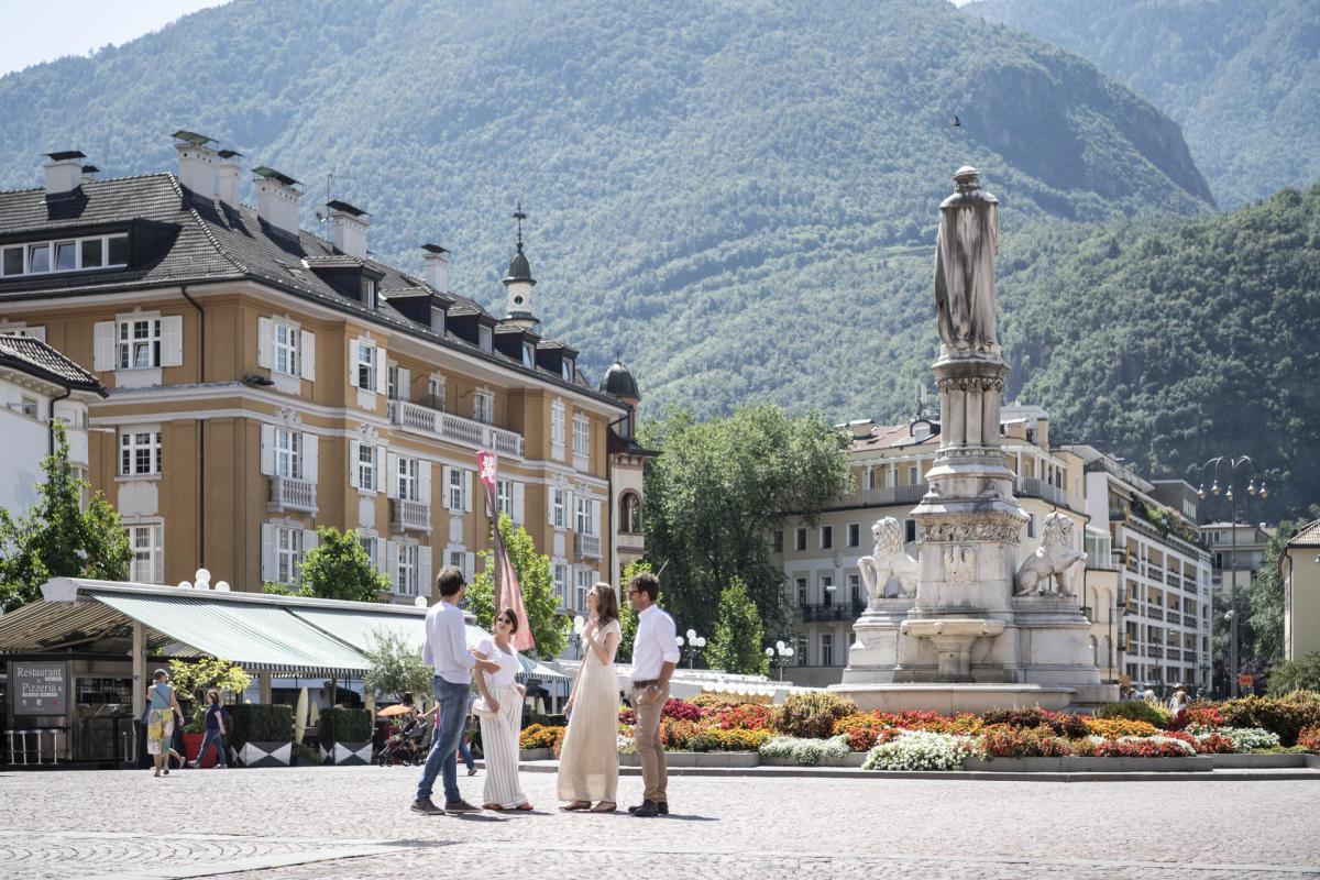
[[[554,595],[550,557],[537,553],[532,536],[523,526],[515,529],[507,513],[499,515],[499,530],[523,587],[523,607],[527,608],[528,625],[536,639],[536,654],[543,658],[554,657],[568,644],[569,624],[566,617],[557,613],[560,600]],[[467,608],[477,615],[478,625],[484,629],[495,623],[494,555],[490,550],[480,554],[483,567],[467,584]]]

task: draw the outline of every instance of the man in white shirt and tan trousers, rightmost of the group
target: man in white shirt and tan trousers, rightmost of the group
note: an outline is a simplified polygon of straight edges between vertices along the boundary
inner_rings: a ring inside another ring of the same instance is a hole
[[[678,643],[673,617],[656,604],[660,581],[649,571],[632,578],[628,602],[638,612],[638,633],[632,640],[632,707],[638,712],[634,736],[642,760],[644,793],[642,803],[628,813],[639,817],[669,813],[669,768],[660,743],[660,710],[669,699],[669,677],[678,665]]]

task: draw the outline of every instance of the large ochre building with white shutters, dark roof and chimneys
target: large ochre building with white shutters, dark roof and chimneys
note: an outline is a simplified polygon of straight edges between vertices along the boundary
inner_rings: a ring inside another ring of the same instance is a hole
[[[488,548],[482,449],[570,607],[640,548],[611,497],[640,505],[636,384],[627,400],[618,375],[589,384],[579,352],[543,335],[520,211],[496,317],[450,289],[445,248],[388,265],[360,207],[330,201],[310,232],[293,177],[252,169],[251,207],[238,153],[176,139],[177,174],[96,179],[69,150],[42,189],[0,193],[0,322],[110,389],[88,408],[87,460],[143,536],[135,579],[206,566],[236,590],[297,583],[333,525],[392,599],[428,596],[440,566],[473,575]]]

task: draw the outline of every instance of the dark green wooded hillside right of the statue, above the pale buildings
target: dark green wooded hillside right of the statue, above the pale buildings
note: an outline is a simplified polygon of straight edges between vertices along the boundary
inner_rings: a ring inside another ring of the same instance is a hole
[[[1192,486],[1247,454],[1270,489],[1251,521],[1320,497],[1320,185],[1218,216],[1023,230],[998,268],[1007,396],[1049,410],[1051,442]]]

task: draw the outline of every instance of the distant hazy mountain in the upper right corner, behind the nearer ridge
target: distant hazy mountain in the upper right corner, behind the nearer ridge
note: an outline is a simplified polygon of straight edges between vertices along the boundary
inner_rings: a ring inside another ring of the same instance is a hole
[[[1238,207],[1320,179],[1320,3],[975,0],[965,12],[1089,58],[1183,127]]]

